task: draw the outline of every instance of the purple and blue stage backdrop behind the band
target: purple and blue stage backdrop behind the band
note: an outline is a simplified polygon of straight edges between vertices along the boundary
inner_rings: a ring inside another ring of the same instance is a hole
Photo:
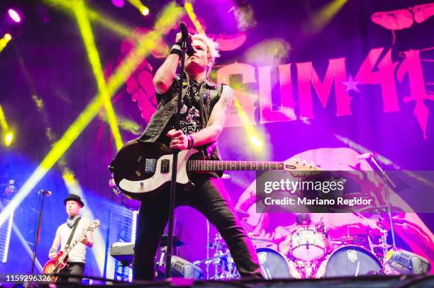
[[[86,274],[129,273],[106,252],[111,243],[134,237],[132,211],[140,203],[113,194],[109,187],[107,166],[117,148],[104,105],[92,115],[84,113],[99,86],[70,6],[79,2],[0,4],[0,17],[7,18],[9,8],[22,16],[18,25],[0,23],[0,37],[12,35],[0,52],[0,232],[7,236],[10,230],[9,243],[1,243],[9,250],[0,272],[30,271],[38,191],[43,189],[52,196],[44,201],[36,253],[42,265],[57,226],[67,219],[62,200],[75,192],[84,197],[82,214],[101,220],[94,248],[87,253]],[[150,35],[161,17],[175,17],[162,14],[170,1],[143,1],[150,8],[146,17],[128,1],[122,8],[111,2],[117,1],[85,1],[92,11],[87,15],[107,83],[140,35]],[[223,159],[284,161],[296,156],[328,170],[373,170],[365,160],[356,159],[372,151],[385,170],[433,170],[433,1],[196,0],[193,8],[196,25],[181,8],[177,11],[184,15],[179,20],[191,33],[202,29],[217,40],[221,57],[211,79],[235,91],[233,110],[219,139]],[[133,74],[121,74],[125,79],[111,98],[123,142],[143,132],[157,107],[152,75],[174,43],[176,22],[157,33],[157,47]],[[73,125],[77,119],[81,122]],[[82,130],[77,128],[80,123],[86,123]],[[6,146],[3,139],[9,131],[14,137]],[[65,132],[72,134],[64,137]],[[60,139],[70,146],[53,152]],[[42,161],[41,168],[49,171],[35,178]],[[256,213],[255,172],[227,175],[224,183],[236,209],[244,212],[245,228],[264,240],[257,240],[257,246],[267,239],[272,248],[289,255],[296,215]],[[428,192],[433,192],[432,184]],[[428,201],[432,197],[427,195]],[[13,217],[4,215],[12,208]],[[311,218],[323,221],[335,239],[368,231],[379,238],[377,219],[367,221],[355,214]],[[433,261],[433,214],[400,214],[395,222],[397,246]],[[175,233],[185,243],[178,248],[182,258],[206,259],[207,224],[199,212],[179,207]],[[211,242],[216,233],[211,226]],[[39,268],[36,265],[35,271]]]

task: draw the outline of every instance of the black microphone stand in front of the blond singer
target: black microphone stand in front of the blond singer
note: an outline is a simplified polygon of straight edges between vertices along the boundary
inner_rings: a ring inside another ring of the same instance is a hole
[[[187,35],[188,37],[188,35]],[[177,112],[175,114],[174,129],[179,130],[181,128],[180,118],[181,118],[181,106],[182,106],[182,83],[184,82],[184,60],[185,52],[187,50],[187,38],[182,37],[181,45],[181,76],[179,77],[179,91],[178,91],[178,106]],[[167,253],[166,253],[166,269],[165,277],[170,277],[170,270],[172,267],[172,246],[173,246],[173,229],[174,229],[174,205],[175,205],[175,195],[177,189],[177,166],[178,166],[178,154],[179,150],[174,149],[173,151],[173,161],[172,161],[172,182],[170,183],[170,200],[169,200],[169,226],[167,228]]]

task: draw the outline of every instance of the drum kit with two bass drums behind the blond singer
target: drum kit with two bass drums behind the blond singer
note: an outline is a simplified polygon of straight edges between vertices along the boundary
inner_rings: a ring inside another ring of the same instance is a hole
[[[379,219],[384,217],[380,212],[371,215],[377,215]],[[276,243],[270,238],[250,238],[266,279],[396,274],[386,263],[386,253],[391,245],[386,243],[387,231],[382,229],[382,222],[378,221],[377,236],[374,237],[367,233],[332,238],[323,219],[311,223],[308,214],[299,214],[295,228],[286,237],[286,249],[277,250]],[[210,258],[194,262],[195,265],[205,264],[207,271],[209,265],[214,268],[213,274],[207,275],[208,279],[240,277],[220,234],[216,234],[210,248],[213,250]]]

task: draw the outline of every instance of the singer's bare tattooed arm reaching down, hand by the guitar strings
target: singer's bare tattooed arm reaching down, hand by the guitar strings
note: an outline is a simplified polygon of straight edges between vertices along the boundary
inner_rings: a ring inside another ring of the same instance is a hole
[[[226,119],[230,113],[232,99],[232,89],[229,86],[224,85],[220,99],[216,105],[214,105],[214,108],[211,112],[208,125],[206,125],[204,129],[191,134],[191,137],[194,139],[194,147],[202,146],[218,139],[218,136],[220,136],[221,132],[223,131]],[[187,149],[187,136],[185,136],[181,131],[175,131],[172,129],[167,133],[167,136],[172,138],[172,142],[170,142],[170,148]]]

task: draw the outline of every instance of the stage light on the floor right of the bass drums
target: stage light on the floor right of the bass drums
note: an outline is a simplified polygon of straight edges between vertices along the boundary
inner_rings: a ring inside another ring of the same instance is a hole
[[[428,259],[401,249],[389,250],[386,260],[401,274],[425,274],[431,267]]]

